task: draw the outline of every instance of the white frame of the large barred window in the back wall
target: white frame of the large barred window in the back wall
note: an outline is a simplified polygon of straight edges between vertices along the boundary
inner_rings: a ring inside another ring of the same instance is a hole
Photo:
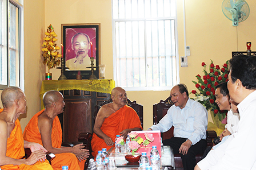
[[[178,22],[177,22],[177,10],[176,10],[176,16],[175,17],[159,17],[159,18],[143,18],[143,19],[114,19],[113,18],[113,1],[112,2],[112,35],[113,35],[113,76],[115,81],[115,86],[117,86],[117,54],[116,54],[116,42],[115,42],[115,22],[126,22],[126,21],[138,21],[142,20],[143,22],[146,22],[147,20],[174,20],[174,31],[175,31],[175,55],[176,55],[176,78],[177,78],[177,84],[179,84],[179,53],[178,53]],[[175,1],[176,9],[177,9],[177,1]],[[146,27],[144,28],[146,32]],[[145,36],[146,37],[146,36]],[[146,38],[145,38],[146,39]],[[146,52],[145,52],[146,53]],[[147,57],[145,55],[145,62],[147,60]],[[145,63],[146,64],[146,63]],[[146,69],[146,84],[147,84],[147,69]],[[173,85],[174,86],[174,85]],[[170,90],[173,88],[173,86],[145,86],[145,87],[123,87],[126,91],[148,91],[148,90],[154,90],[154,91],[161,91],[161,90]]]

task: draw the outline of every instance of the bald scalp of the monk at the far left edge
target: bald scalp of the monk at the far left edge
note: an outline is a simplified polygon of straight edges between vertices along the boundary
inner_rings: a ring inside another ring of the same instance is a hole
[[[13,106],[15,99],[20,99],[25,96],[24,92],[17,87],[9,87],[3,90],[1,94],[1,100],[3,103],[3,107],[8,108]]]

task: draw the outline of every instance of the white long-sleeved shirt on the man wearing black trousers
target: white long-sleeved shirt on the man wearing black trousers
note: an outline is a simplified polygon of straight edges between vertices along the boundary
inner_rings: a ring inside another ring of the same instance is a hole
[[[187,138],[195,144],[201,139],[206,139],[207,124],[208,113],[205,107],[189,98],[183,109],[171,106],[165,117],[151,128],[166,132],[174,126],[174,137]]]

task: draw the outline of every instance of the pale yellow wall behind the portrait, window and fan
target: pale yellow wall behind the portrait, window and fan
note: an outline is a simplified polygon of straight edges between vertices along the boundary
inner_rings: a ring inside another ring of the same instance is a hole
[[[44,79],[45,67],[42,64],[41,43],[43,34],[52,24],[61,44],[61,24],[101,23],[101,63],[106,64],[105,78],[113,78],[113,45],[111,0],[45,0],[24,1],[25,9],[25,93],[27,96],[27,114],[21,119],[22,128],[39,110],[39,89]],[[183,1],[178,3],[178,47],[179,56],[184,56]],[[247,0],[250,9],[256,8],[254,0]],[[230,59],[231,51],[245,51],[246,42],[252,42],[255,51],[255,17],[251,10],[249,18],[238,27],[233,27],[221,9],[222,1],[185,0],[186,9],[186,45],[190,45],[189,67],[179,68],[179,77],[189,91],[195,89],[191,80],[202,74],[201,63],[207,65],[210,59],[214,64],[222,65]],[[237,38],[238,37],[238,38]],[[237,48],[238,42],[238,48]],[[52,69],[53,79],[60,75],[59,69]],[[169,96],[168,91],[127,92],[131,100],[144,106],[144,128],[153,123],[152,106],[160,99]]]

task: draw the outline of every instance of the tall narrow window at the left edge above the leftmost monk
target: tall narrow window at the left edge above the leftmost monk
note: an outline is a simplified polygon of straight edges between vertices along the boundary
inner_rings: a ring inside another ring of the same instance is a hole
[[[23,88],[21,1],[0,0],[0,89]]]

